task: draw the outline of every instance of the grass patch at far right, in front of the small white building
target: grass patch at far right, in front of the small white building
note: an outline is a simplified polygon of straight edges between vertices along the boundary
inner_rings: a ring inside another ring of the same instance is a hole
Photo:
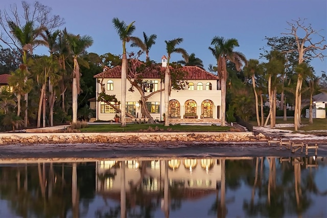
[[[253,126],[257,126],[256,121],[249,121]],[[276,119],[276,124],[283,123],[294,123],[294,118],[288,118],[287,121],[284,121],[283,118]],[[299,131],[313,131],[313,130],[326,130],[327,132],[327,119],[313,119],[313,124],[309,123],[309,118],[301,118],[301,123],[304,126],[298,128]],[[268,122],[270,125],[270,122]],[[280,127],[280,129],[294,130],[294,127]]]

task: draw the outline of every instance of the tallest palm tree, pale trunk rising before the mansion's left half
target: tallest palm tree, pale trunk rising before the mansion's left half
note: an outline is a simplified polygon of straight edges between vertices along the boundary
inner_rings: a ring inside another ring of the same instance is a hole
[[[128,26],[122,20],[117,17],[112,19],[113,27],[119,35],[119,38],[123,42],[123,59],[122,59],[122,108],[121,108],[121,120],[122,127],[126,126],[126,79],[127,79],[127,56],[126,56],[126,42],[132,41],[136,45],[142,45],[142,40],[138,37],[132,36],[135,31],[135,26],[133,25],[135,21],[130,23]]]

